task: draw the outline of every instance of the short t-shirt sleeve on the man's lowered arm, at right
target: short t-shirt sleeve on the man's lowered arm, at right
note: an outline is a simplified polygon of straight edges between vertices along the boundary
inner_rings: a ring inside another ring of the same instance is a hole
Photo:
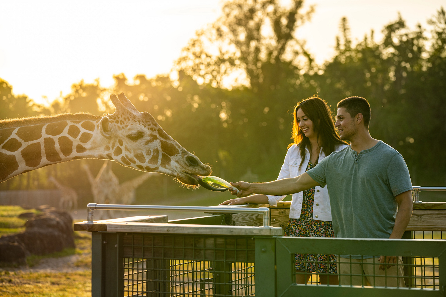
[[[393,196],[413,190],[409,169],[401,154],[396,154],[390,159],[387,166],[387,178]]]

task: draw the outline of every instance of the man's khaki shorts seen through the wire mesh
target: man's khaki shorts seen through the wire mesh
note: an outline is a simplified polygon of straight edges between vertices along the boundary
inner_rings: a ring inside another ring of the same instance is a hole
[[[380,270],[379,258],[350,259],[337,257],[339,284],[340,285],[364,285],[376,287],[405,287],[403,260],[397,257],[398,264],[385,270]],[[347,262],[347,263],[341,263]],[[373,269],[375,267],[375,269]],[[347,275],[345,275],[347,274]],[[350,277],[350,274],[354,275]],[[387,281],[386,281],[387,280]]]

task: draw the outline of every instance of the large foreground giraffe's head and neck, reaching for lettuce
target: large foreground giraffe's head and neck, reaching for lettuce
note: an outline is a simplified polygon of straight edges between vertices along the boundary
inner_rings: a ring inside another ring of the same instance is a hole
[[[198,187],[211,167],[186,151],[148,112],[123,93],[102,117],[78,113],[0,121],[0,182],[50,164],[76,159],[113,160],[140,171],[170,175]]]

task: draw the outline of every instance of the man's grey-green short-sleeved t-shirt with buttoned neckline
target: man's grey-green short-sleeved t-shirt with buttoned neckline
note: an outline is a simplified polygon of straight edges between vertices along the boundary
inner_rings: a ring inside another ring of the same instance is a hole
[[[389,238],[394,197],[413,189],[403,156],[382,141],[358,155],[350,146],[335,151],[306,173],[328,187],[335,237]]]

